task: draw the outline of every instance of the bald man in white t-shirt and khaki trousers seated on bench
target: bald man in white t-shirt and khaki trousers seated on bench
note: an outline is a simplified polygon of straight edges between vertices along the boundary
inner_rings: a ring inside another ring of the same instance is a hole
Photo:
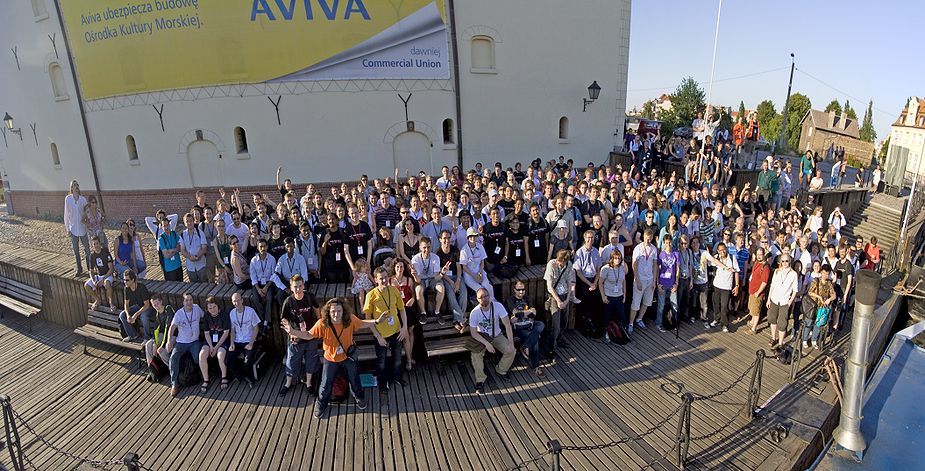
[[[475,370],[475,393],[482,394],[485,391],[485,380],[488,379],[485,374],[485,352],[501,353],[501,360],[498,361],[495,372],[502,380],[509,381],[508,370],[514,363],[516,350],[514,338],[504,334],[513,332],[510,315],[504,305],[493,301],[491,294],[484,288],[478,290],[476,297],[479,305],[469,313],[469,334],[477,344],[474,345],[470,356],[472,369]],[[504,326],[504,331],[501,330],[501,325]]]

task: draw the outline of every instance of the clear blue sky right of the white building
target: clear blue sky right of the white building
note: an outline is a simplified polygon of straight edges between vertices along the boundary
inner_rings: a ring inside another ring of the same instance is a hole
[[[687,76],[707,91],[718,5],[718,0],[633,2],[628,109],[671,93]],[[873,99],[880,141],[905,100],[925,95],[923,18],[922,0],[725,0],[712,101],[737,108],[742,100],[754,109],[770,99],[780,112],[793,52],[793,91],[818,109],[848,99],[858,119]],[[736,78],[749,74],[755,75]],[[728,78],[736,79],[722,80]]]

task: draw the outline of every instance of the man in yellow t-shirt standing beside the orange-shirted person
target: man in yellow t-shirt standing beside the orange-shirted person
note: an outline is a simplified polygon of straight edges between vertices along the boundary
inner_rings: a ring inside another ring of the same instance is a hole
[[[408,317],[398,288],[389,285],[389,272],[379,267],[373,272],[376,287],[366,293],[363,312],[367,319],[378,319],[385,315],[382,323],[372,329],[376,337],[376,377],[379,379],[379,392],[389,390],[389,383],[404,386],[401,369],[401,347],[408,336]],[[391,354],[391,362],[388,356]],[[386,364],[388,363],[388,366]]]

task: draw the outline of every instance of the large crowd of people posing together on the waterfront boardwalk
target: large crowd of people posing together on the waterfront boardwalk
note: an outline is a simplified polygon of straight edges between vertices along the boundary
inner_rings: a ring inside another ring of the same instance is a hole
[[[754,188],[736,187],[723,172],[722,144],[713,147],[705,136],[691,145],[695,151],[680,156],[689,171],[678,174],[646,159],[576,167],[560,156],[507,168],[444,166],[438,176],[396,170],[322,192],[280,181],[280,168],[278,193],[245,199],[222,189],[211,201],[199,191],[184,214],[146,217],[156,254],[145,253],[145,235],[131,219],[109,243],[105,218],[76,181],[64,220],[78,275],[88,267],[93,307],[122,311],[125,340],[144,342],[148,361],[166,365],[173,395],[186,353],[200,366],[203,392],[210,359],[219,363],[222,389],[248,379],[234,365],[253,361],[267,329],[283,329],[289,342],[280,395],[303,375],[311,385],[320,373],[317,415],[339,372],[365,408],[360,329],[375,338],[383,393],[403,385],[403,374],[420,361],[413,353],[426,342],[414,332],[430,322],[471,336],[477,393],[486,385],[486,352],[501,354],[500,380],[517,356],[542,377],[568,348],[571,328],[611,342],[682,322],[729,332],[748,319],[741,331],[757,334],[767,318],[771,348],[782,348],[790,334],[818,348],[820,335],[843,325],[855,272],[879,264],[877,240],[843,238],[846,220],[837,208],[823,214],[820,206],[798,205],[800,192],[813,188],[804,178],[815,167],[809,154],[799,169],[772,155],[762,160]],[[699,167],[691,166],[695,160]],[[189,282],[234,283],[234,308],[221,312],[210,299],[203,310],[188,295],[179,309],[165,306],[143,283],[155,263],[166,280],[183,281],[185,273]],[[522,282],[509,299],[498,299],[489,274],[510,278],[531,265],[545,267],[545,305],[533,305],[536,296]],[[125,285],[119,306],[114,280]],[[305,289],[313,283],[346,283],[354,299],[319,306]]]

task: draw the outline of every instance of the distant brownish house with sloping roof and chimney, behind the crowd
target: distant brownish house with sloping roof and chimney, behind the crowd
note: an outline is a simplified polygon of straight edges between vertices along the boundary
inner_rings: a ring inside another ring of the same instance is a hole
[[[844,147],[845,158],[870,165],[874,145],[860,139],[858,122],[845,114],[809,110],[800,121],[800,152],[807,149],[825,155],[831,147]]]

